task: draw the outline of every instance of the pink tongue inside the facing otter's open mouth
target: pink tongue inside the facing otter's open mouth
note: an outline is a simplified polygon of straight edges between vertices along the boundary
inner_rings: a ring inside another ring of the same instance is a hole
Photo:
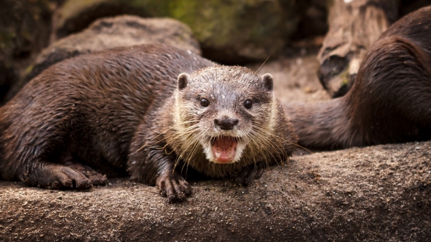
[[[234,138],[222,136],[213,144],[213,156],[218,163],[229,163],[235,157],[236,141]]]

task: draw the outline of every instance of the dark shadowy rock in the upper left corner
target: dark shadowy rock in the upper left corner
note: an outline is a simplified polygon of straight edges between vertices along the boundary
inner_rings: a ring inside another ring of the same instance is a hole
[[[44,0],[0,1],[0,104],[26,65],[48,45],[52,11]]]

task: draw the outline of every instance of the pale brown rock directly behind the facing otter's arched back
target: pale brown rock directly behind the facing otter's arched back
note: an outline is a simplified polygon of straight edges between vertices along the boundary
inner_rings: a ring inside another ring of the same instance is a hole
[[[88,29],[60,39],[44,49],[35,63],[28,68],[24,82],[37,76],[50,65],[80,54],[113,47],[159,43],[201,54],[199,43],[190,28],[169,18],[143,19],[123,15],[99,19]],[[14,90],[19,90],[16,86]],[[13,95],[15,93],[10,93]]]

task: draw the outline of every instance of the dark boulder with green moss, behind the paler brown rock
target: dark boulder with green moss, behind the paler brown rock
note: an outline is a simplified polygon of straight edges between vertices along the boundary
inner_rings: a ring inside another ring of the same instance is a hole
[[[190,26],[207,58],[221,63],[262,61],[278,54],[296,30],[300,14],[295,2],[68,0],[56,15],[55,33],[63,37],[106,15],[173,17]]]

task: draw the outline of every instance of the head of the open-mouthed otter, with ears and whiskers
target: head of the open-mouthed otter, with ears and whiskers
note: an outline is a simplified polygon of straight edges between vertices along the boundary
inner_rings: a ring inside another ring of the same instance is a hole
[[[203,147],[214,163],[240,161],[247,145],[257,149],[259,136],[270,129],[273,98],[273,76],[245,67],[179,74],[174,116],[189,143],[189,156]]]

